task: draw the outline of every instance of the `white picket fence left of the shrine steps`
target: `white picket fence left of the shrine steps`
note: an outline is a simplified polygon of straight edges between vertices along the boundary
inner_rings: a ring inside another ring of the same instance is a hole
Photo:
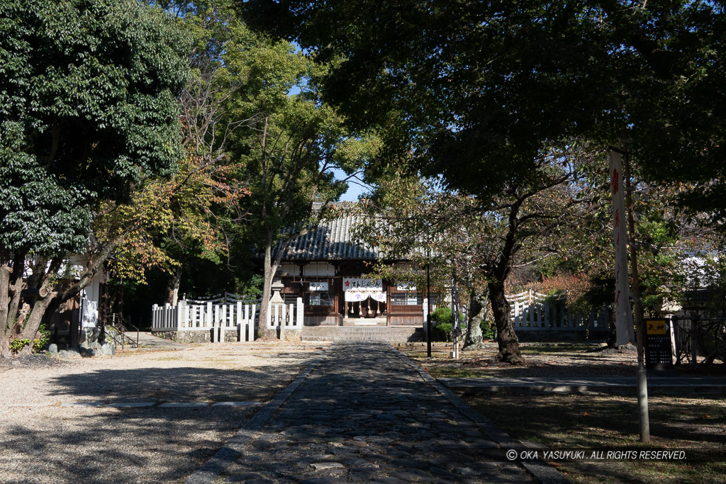
[[[296,303],[269,303],[266,327],[268,329],[302,329],[304,305],[303,299]],[[152,332],[163,331],[211,331],[212,342],[224,342],[224,332],[237,330],[240,341],[254,341],[258,321],[259,308],[256,304],[224,303],[220,300],[191,302],[181,300],[176,305],[152,306]]]

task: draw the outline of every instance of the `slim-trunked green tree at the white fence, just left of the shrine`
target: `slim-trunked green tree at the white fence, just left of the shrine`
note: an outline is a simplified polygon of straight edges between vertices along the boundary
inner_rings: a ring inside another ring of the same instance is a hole
[[[345,192],[345,180],[335,179],[333,169],[353,176],[378,150],[375,137],[345,128],[338,112],[321,101],[321,69],[284,42],[269,45],[252,65],[266,89],[252,103],[254,132],[240,137],[237,147],[250,177],[253,234],[264,253],[263,301],[287,245],[317,226],[327,202]],[[267,305],[260,311],[265,321]]]

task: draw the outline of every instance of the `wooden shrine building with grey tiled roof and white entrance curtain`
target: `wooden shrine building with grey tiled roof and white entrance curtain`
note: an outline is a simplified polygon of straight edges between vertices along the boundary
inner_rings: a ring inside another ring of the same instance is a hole
[[[425,288],[367,276],[367,262],[389,261],[376,247],[351,241],[359,216],[320,223],[282,255],[282,297],[303,298],[305,326],[377,324],[423,327]]]

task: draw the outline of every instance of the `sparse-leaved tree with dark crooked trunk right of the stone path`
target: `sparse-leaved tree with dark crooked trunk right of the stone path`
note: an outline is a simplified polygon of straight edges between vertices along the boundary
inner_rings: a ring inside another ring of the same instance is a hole
[[[497,358],[521,363],[505,298],[507,279],[515,264],[555,255],[568,231],[576,230],[576,218],[592,197],[578,167],[593,163],[597,155],[574,145],[542,153],[537,181],[512,182],[499,196],[484,200],[426,185],[392,184],[384,203],[372,210],[386,223],[372,218],[359,229],[359,237],[419,263],[428,263],[432,254],[439,270],[455,261],[477,307],[481,310],[482,296],[489,299],[497,325]]]

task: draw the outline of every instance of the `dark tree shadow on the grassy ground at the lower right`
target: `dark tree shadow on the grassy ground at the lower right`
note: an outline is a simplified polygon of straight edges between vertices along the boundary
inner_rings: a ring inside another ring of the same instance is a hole
[[[648,445],[638,442],[635,395],[511,393],[468,401],[513,437],[537,440],[552,450],[688,449],[685,463],[568,463],[582,473],[576,482],[722,483],[726,477],[726,403],[722,398],[650,398],[652,442]]]

